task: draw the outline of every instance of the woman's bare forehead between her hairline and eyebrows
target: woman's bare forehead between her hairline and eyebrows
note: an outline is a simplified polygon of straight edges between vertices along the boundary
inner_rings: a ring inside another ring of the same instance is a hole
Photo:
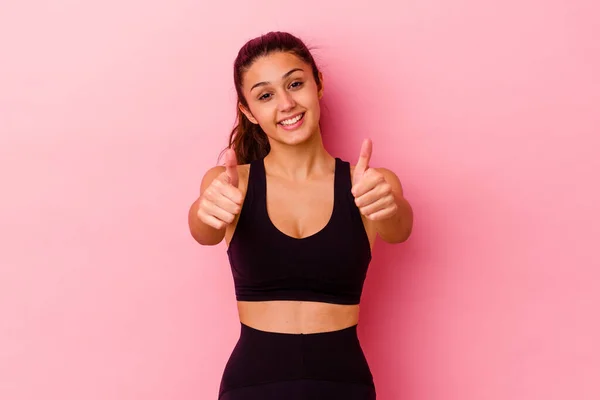
[[[310,66],[291,53],[275,52],[258,58],[244,74],[244,87],[252,87],[258,82],[279,82],[282,76],[294,69],[302,68],[305,73]]]

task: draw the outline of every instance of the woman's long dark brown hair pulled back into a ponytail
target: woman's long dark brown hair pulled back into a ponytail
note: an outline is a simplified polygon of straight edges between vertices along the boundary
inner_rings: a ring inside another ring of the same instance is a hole
[[[315,82],[319,87],[319,69],[310,50],[302,40],[287,32],[269,32],[248,41],[238,52],[233,64],[233,81],[238,96],[238,103],[248,108],[248,102],[242,93],[243,74],[254,61],[273,52],[292,53],[312,67]],[[236,103],[236,126],[229,136],[228,148],[233,148],[238,164],[248,164],[266,156],[271,150],[267,135],[260,125],[253,124],[239,109]],[[225,151],[225,150],[223,150]]]

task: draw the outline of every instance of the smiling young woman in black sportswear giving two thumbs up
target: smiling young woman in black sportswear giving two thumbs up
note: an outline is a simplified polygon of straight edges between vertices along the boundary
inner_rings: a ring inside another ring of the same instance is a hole
[[[412,209],[396,175],[323,147],[323,75],[304,43],[271,32],[235,60],[238,124],[225,166],[189,211],[203,245],[223,238],[241,333],[220,400],[375,399],[357,323],[376,235],[405,241]],[[358,151],[357,151],[358,153]]]

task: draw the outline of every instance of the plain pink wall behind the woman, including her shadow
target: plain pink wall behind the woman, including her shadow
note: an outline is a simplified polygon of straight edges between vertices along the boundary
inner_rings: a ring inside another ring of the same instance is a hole
[[[600,7],[589,1],[0,3],[0,398],[214,399],[238,336],[187,210],[231,65],[315,47],[328,149],[415,210],[360,337],[382,400],[600,398]]]

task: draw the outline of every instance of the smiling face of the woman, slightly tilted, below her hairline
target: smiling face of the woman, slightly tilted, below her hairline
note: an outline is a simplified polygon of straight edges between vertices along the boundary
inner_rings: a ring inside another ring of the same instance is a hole
[[[271,142],[304,142],[319,133],[320,73],[319,77],[317,85],[311,66],[292,53],[260,57],[244,73],[242,91],[248,108],[240,104],[240,109]]]

